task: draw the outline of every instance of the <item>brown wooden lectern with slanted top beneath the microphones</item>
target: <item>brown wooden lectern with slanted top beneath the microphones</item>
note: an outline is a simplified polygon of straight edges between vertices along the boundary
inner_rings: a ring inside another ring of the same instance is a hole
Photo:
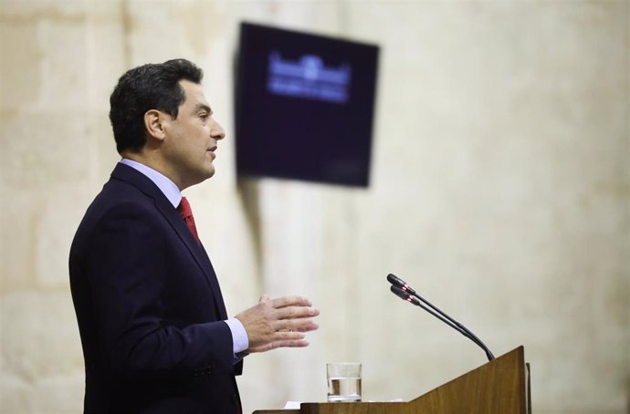
[[[529,414],[528,368],[518,347],[409,402],[307,402],[254,414]]]

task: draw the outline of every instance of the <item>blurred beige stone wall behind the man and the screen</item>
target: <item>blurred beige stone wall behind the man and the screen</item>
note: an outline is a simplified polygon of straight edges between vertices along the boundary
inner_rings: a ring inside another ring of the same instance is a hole
[[[237,184],[244,19],[381,45],[369,189]],[[627,1],[0,0],[0,412],[81,409],[68,246],[118,160],[110,90],[171,57],[205,68],[228,131],[186,191],[228,309],[322,313],[311,347],[247,357],[246,412],[323,400],[331,360],[362,361],[373,400],[484,363],[389,272],[495,354],[524,345],[534,412],[630,412],[629,27]]]

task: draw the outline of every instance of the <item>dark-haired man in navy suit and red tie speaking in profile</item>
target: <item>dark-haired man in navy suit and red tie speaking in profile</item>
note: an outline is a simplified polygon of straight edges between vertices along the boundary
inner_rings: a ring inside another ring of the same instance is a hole
[[[181,191],[215,173],[225,132],[184,59],[125,73],[110,97],[122,160],[69,257],[88,413],[236,413],[248,353],[306,347],[319,315],[299,296],[228,319]],[[184,215],[183,215],[183,214]]]

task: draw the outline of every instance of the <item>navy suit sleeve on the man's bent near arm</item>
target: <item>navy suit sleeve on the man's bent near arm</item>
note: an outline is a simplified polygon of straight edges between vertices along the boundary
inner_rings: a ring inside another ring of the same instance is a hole
[[[134,203],[116,206],[97,223],[86,270],[101,357],[130,376],[198,369],[233,374],[225,322],[179,327],[164,322],[165,231],[159,213]]]

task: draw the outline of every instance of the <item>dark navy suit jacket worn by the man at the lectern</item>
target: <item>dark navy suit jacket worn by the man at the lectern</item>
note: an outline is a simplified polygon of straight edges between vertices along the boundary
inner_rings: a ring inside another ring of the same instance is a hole
[[[123,164],[69,258],[87,413],[234,413],[232,335],[215,271],[179,212]]]

